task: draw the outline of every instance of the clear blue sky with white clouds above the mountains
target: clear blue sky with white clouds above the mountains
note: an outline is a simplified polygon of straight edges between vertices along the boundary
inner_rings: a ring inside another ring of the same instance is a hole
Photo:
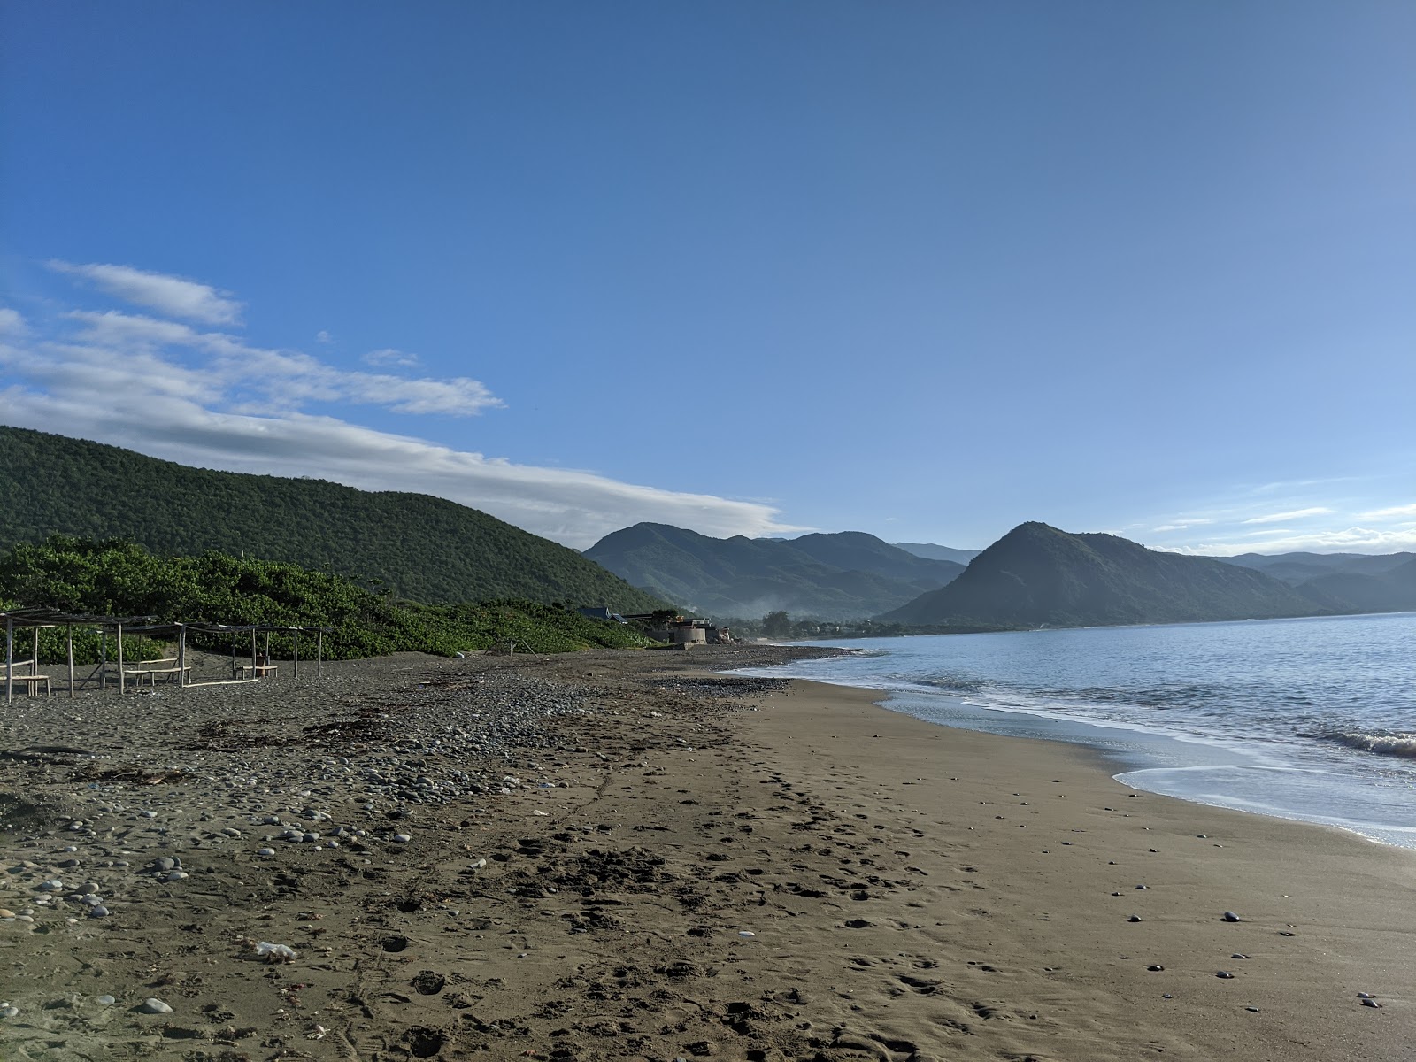
[[[0,423],[585,548],[1416,549],[1409,0],[0,1]]]

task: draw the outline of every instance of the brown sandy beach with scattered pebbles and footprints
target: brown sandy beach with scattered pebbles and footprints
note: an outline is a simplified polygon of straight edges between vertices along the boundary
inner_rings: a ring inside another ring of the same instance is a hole
[[[0,1058],[1412,1056],[1416,854],[796,651],[16,700]]]

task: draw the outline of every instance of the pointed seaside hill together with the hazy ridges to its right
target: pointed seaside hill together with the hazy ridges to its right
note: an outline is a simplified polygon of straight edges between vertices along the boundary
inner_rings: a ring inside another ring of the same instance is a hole
[[[1185,556],[1028,523],[978,554],[947,586],[879,620],[1070,627],[1405,609],[1416,609],[1416,556],[1409,554]]]

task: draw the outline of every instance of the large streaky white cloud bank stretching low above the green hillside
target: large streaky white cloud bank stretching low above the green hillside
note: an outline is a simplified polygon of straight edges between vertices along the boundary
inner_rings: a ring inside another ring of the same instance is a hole
[[[583,548],[657,521],[715,537],[800,531],[759,501],[517,464],[374,430],[313,404],[469,415],[501,405],[479,381],[346,371],[300,351],[116,312],[62,314],[44,334],[0,338],[0,422],[229,472],[316,476],[433,494]]]

